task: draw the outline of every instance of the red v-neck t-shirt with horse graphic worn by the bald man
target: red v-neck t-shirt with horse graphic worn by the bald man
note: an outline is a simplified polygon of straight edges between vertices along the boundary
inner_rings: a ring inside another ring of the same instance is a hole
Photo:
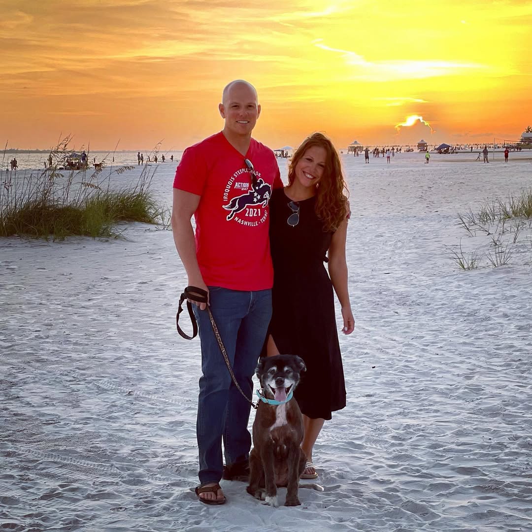
[[[249,159],[257,174],[251,186]],[[196,255],[208,286],[265,290],[273,285],[268,202],[282,187],[270,148],[251,139],[246,156],[222,132],[185,150],[174,188],[201,196],[196,220]]]

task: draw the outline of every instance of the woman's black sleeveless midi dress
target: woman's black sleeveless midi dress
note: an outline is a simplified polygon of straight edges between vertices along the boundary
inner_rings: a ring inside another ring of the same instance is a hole
[[[345,382],[331,280],[323,265],[332,232],[314,212],[315,197],[297,202],[299,223],[284,189],[270,200],[273,314],[269,333],[281,354],[301,356],[306,372],[294,396],[309,418],[331,419],[345,407]]]

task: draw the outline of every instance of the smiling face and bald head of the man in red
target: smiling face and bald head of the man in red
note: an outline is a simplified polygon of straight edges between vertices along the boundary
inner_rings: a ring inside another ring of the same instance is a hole
[[[253,88],[244,83],[233,85],[224,101],[219,105],[220,114],[225,119],[225,130],[234,135],[251,135],[261,114],[261,106]]]

